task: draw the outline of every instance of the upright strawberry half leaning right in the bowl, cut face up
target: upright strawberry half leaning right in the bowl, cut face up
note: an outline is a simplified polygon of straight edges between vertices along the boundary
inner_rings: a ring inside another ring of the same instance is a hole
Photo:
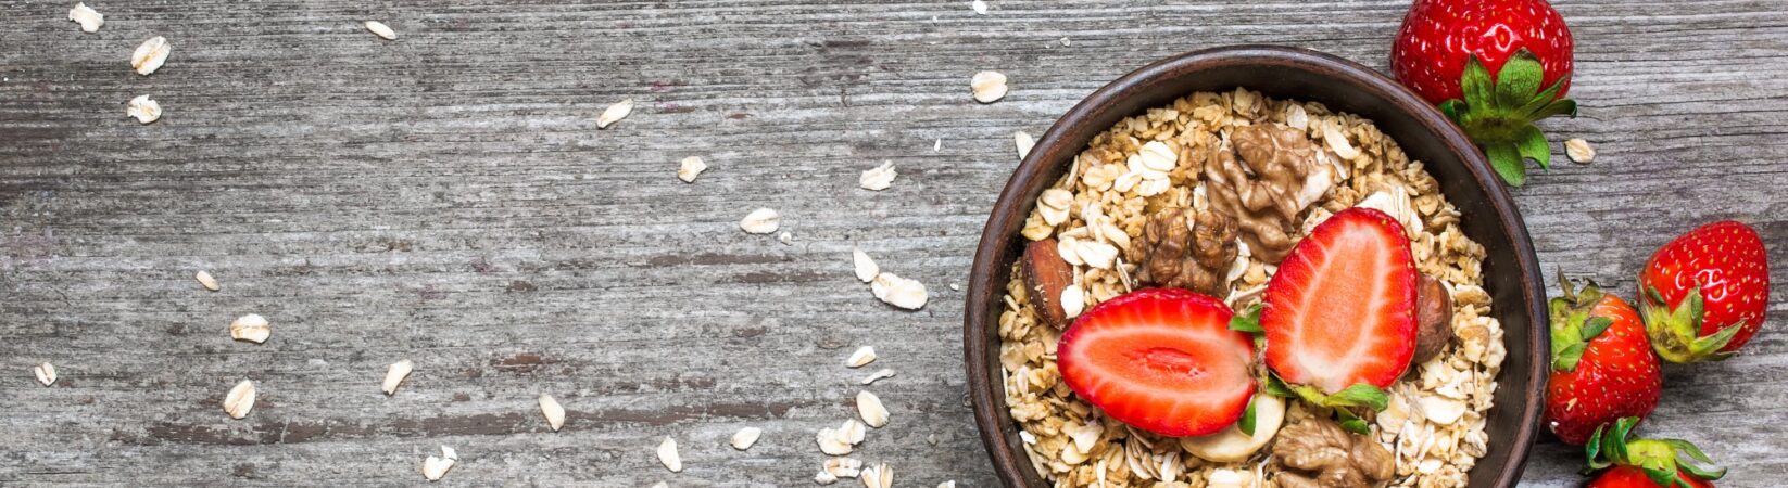
[[[1416,352],[1416,261],[1389,215],[1354,207],[1311,231],[1266,286],[1266,365],[1339,393],[1391,386]]]

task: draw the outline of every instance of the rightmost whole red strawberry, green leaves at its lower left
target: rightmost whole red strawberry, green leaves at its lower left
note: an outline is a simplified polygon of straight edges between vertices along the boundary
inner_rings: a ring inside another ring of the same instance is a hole
[[[1715,222],[1666,243],[1640,273],[1645,329],[1672,363],[1725,359],[1763,327],[1770,265],[1750,225]]]

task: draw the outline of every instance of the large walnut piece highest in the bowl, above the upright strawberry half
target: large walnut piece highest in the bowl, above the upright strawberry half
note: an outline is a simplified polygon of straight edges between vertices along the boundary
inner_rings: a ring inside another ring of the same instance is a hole
[[[1318,159],[1303,130],[1278,123],[1236,127],[1230,145],[1209,150],[1210,204],[1239,220],[1255,257],[1269,265],[1286,259],[1296,243],[1298,213],[1328,193],[1334,168]]]

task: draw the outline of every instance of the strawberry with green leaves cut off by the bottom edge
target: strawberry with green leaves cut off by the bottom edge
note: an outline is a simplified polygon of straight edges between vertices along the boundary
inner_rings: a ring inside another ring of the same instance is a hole
[[[1632,438],[1638,424],[1638,416],[1627,416],[1595,429],[1584,445],[1584,474],[1606,472],[1588,488],[1713,488],[1709,481],[1725,475],[1725,468],[1702,467],[1713,459],[1686,440]]]

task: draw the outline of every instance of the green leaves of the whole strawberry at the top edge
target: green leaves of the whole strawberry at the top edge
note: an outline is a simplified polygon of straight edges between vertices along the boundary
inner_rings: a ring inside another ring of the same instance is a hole
[[[1484,150],[1502,181],[1522,186],[1527,184],[1529,159],[1541,170],[1552,164],[1552,148],[1534,122],[1559,114],[1577,116],[1577,102],[1557,98],[1566,79],[1541,89],[1545,66],[1527,50],[1511,55],[1497,77],[1472,55],[1459,75],[1464,100],[1441,102],[1439,109]]]

